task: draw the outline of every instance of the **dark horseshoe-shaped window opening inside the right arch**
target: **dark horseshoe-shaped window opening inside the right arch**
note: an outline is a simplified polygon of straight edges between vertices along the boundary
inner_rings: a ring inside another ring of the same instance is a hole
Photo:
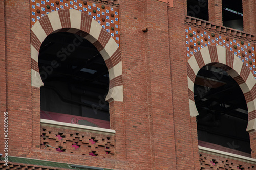
[[[195,79],[194,99],[199,145],[250,157],[248,109],[238,83],[223,69],[204,66]]]

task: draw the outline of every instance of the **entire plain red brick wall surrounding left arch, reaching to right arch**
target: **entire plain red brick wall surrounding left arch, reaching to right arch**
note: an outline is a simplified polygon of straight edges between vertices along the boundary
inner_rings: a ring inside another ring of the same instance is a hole
[[[0,118],[8,111],[10,155],[113,169],[200,169],[196,117],[190,117],[188,103],[185,1],[174,1],[173,8],[155,0],[120,1],[124,102],[110,103],[114,158],[75,159],[74,154],[40,149],[39,88],[31,87],[29,0],[3,2]],[[210,9],[217,13],[210,20],[221,25],[219,8]],[[0,147],[2,152],[2,142]]]

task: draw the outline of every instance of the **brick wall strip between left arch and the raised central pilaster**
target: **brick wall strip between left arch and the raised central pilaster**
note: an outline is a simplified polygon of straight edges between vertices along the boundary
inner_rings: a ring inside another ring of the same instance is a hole
[[[120,47],[123,65],[124,139],[126,159],[150,169],[144,8],[146,1],[120,1]],[[138,5],[140,4],[140,5]],[[145,25],[146,26],[146,25]]]

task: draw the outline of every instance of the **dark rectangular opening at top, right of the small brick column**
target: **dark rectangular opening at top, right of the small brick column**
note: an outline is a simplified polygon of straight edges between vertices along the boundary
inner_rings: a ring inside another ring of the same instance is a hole
[[[223,26],[243,31],[243,4],[241,0],[222,0]]]

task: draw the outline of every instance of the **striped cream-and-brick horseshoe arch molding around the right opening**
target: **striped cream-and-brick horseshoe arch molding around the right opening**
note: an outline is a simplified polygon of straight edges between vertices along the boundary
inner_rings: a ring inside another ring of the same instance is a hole
[[[242,89],[248,107],[248,132],[256,130],[256,79],[249,68],[232,52],[222,46],[208,46],[196,52],[187,62],[187,80],[190,116],[197,116],[194,101],[194,82],[198,71],[205,65],[227,68],[228,74],[234,78]],[[228,68],[228,67],[230,68]]]

